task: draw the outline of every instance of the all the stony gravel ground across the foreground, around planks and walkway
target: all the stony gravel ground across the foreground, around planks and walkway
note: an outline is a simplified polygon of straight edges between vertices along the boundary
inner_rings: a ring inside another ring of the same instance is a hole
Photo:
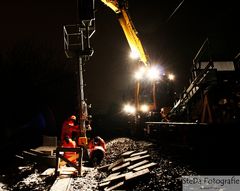
[[[107,142],[107,153],[102,165],[110,164],[119,159],[126,151],[148,150],[151,161],[156,162],[149,175],[138,178],[121,189],[149,191],[149,190],[182,190],[181,176],[196,175],[196,172],[187,165],[171,160],[171,156],[163,153],[163,150],[147,141],[135,141],[129,138],[116,138]],[[53,176],[41,176],[45,170],[37,164],[24,164],[12,170],[5,170],[0,175],[0,190],[3,191],[47,191],[54,182]],[[99,172],[97,168],[86,168],[82,177],[76,177],[71,182],[71,191],[95,191],[99,190],[98,183],[109,175],[108,172]]]

